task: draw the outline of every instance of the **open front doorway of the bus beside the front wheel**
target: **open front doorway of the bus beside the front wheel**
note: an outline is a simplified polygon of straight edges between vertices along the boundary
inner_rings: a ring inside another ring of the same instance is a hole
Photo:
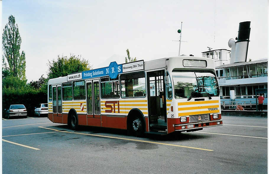
[[[149,125],[152,130],[166,130],[166,93],[164,70],[147,72]]]

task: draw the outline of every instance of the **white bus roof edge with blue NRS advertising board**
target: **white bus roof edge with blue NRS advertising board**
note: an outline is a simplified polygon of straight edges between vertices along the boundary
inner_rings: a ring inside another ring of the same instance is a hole
[[[184,61],[186,61],[185,66],[184,66]],[[201,62],[203,64],[201,64]],[[139,60],[139,61],[129,62],[125,64],[120,64],[120,65],[118,65],[116,62],[111,62],[108,67],[98,68],[94,70],[87,70],[83,72],[76,72],[76,73],[69,74],[65,77],[58,77],[58,78],[50,79],[49,84],[58,84],[58,83],[64,83],[67,81],[97,78],[97,77],[103,77],[103,76],[108,76],[108,75],[111,78],[116,78],[118,74],[133,72],[133,71],[140,71],[140,70],[146,71],[146,70],[161,69],[161,68],[164,68],[165,65],[167,65],[169,70],[173,70],[174,68],[215,69],[215,63],[213,59],[204,58],[204,57],[194,57],[194,56],[178,56],[178,57],[161,58],[161,59],[156,59],[156,60],[150,60],[147,62],[144,62],[144,60]]]

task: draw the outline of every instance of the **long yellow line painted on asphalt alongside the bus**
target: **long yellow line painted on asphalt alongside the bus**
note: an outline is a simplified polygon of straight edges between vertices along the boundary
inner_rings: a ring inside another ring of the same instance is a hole
[[[106,137],[106,138],[115,138],[115,139],[121,139],[121,140],[129,140],[129,141],[137,141],[137,142],[152,143],[152,144],[162,144],[162,145],[167,145],[167,146],[184,147],[184,148],[189,148],[189,149],[213,151],[213,150],[210,150],[210,149],[202,149],[202,148],[197,148],[197,147],[181,146],[181,145],[176,145],[176,144],[158,143],[158,142],[154,142],[154,141],[144,141],[144,140],[136,140],[136,139],[130,139],[130,138],[120,138],[120,137],[114,137],[114,136],[104,136],[104,135],[95,135],[95,134],[87,134],[87,133],[59,131],[57,129],[45,128],[45,127],[42,127],[42,126],[38,126],[38,128],[50,129],[50,130],[57,131],[57,132],[76,133],[76,134],[81,134],[81,135],[90,135],[90,136],[98,136],[98,137]]]

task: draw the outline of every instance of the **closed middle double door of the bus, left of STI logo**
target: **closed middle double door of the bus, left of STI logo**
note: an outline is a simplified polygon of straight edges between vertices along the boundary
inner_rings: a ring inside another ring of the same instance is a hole
[[[86,81],[87,125],[101,126],[99,80]]]

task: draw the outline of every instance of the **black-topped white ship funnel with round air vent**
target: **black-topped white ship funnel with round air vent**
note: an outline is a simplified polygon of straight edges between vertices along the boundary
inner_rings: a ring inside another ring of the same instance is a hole
[[[231,48],[231,61],[230,63],[236,62],[247,62],[247,49],[250,35],[250,21],[240,22],[238,36],[234,39],[230,39],[228,46]]]

